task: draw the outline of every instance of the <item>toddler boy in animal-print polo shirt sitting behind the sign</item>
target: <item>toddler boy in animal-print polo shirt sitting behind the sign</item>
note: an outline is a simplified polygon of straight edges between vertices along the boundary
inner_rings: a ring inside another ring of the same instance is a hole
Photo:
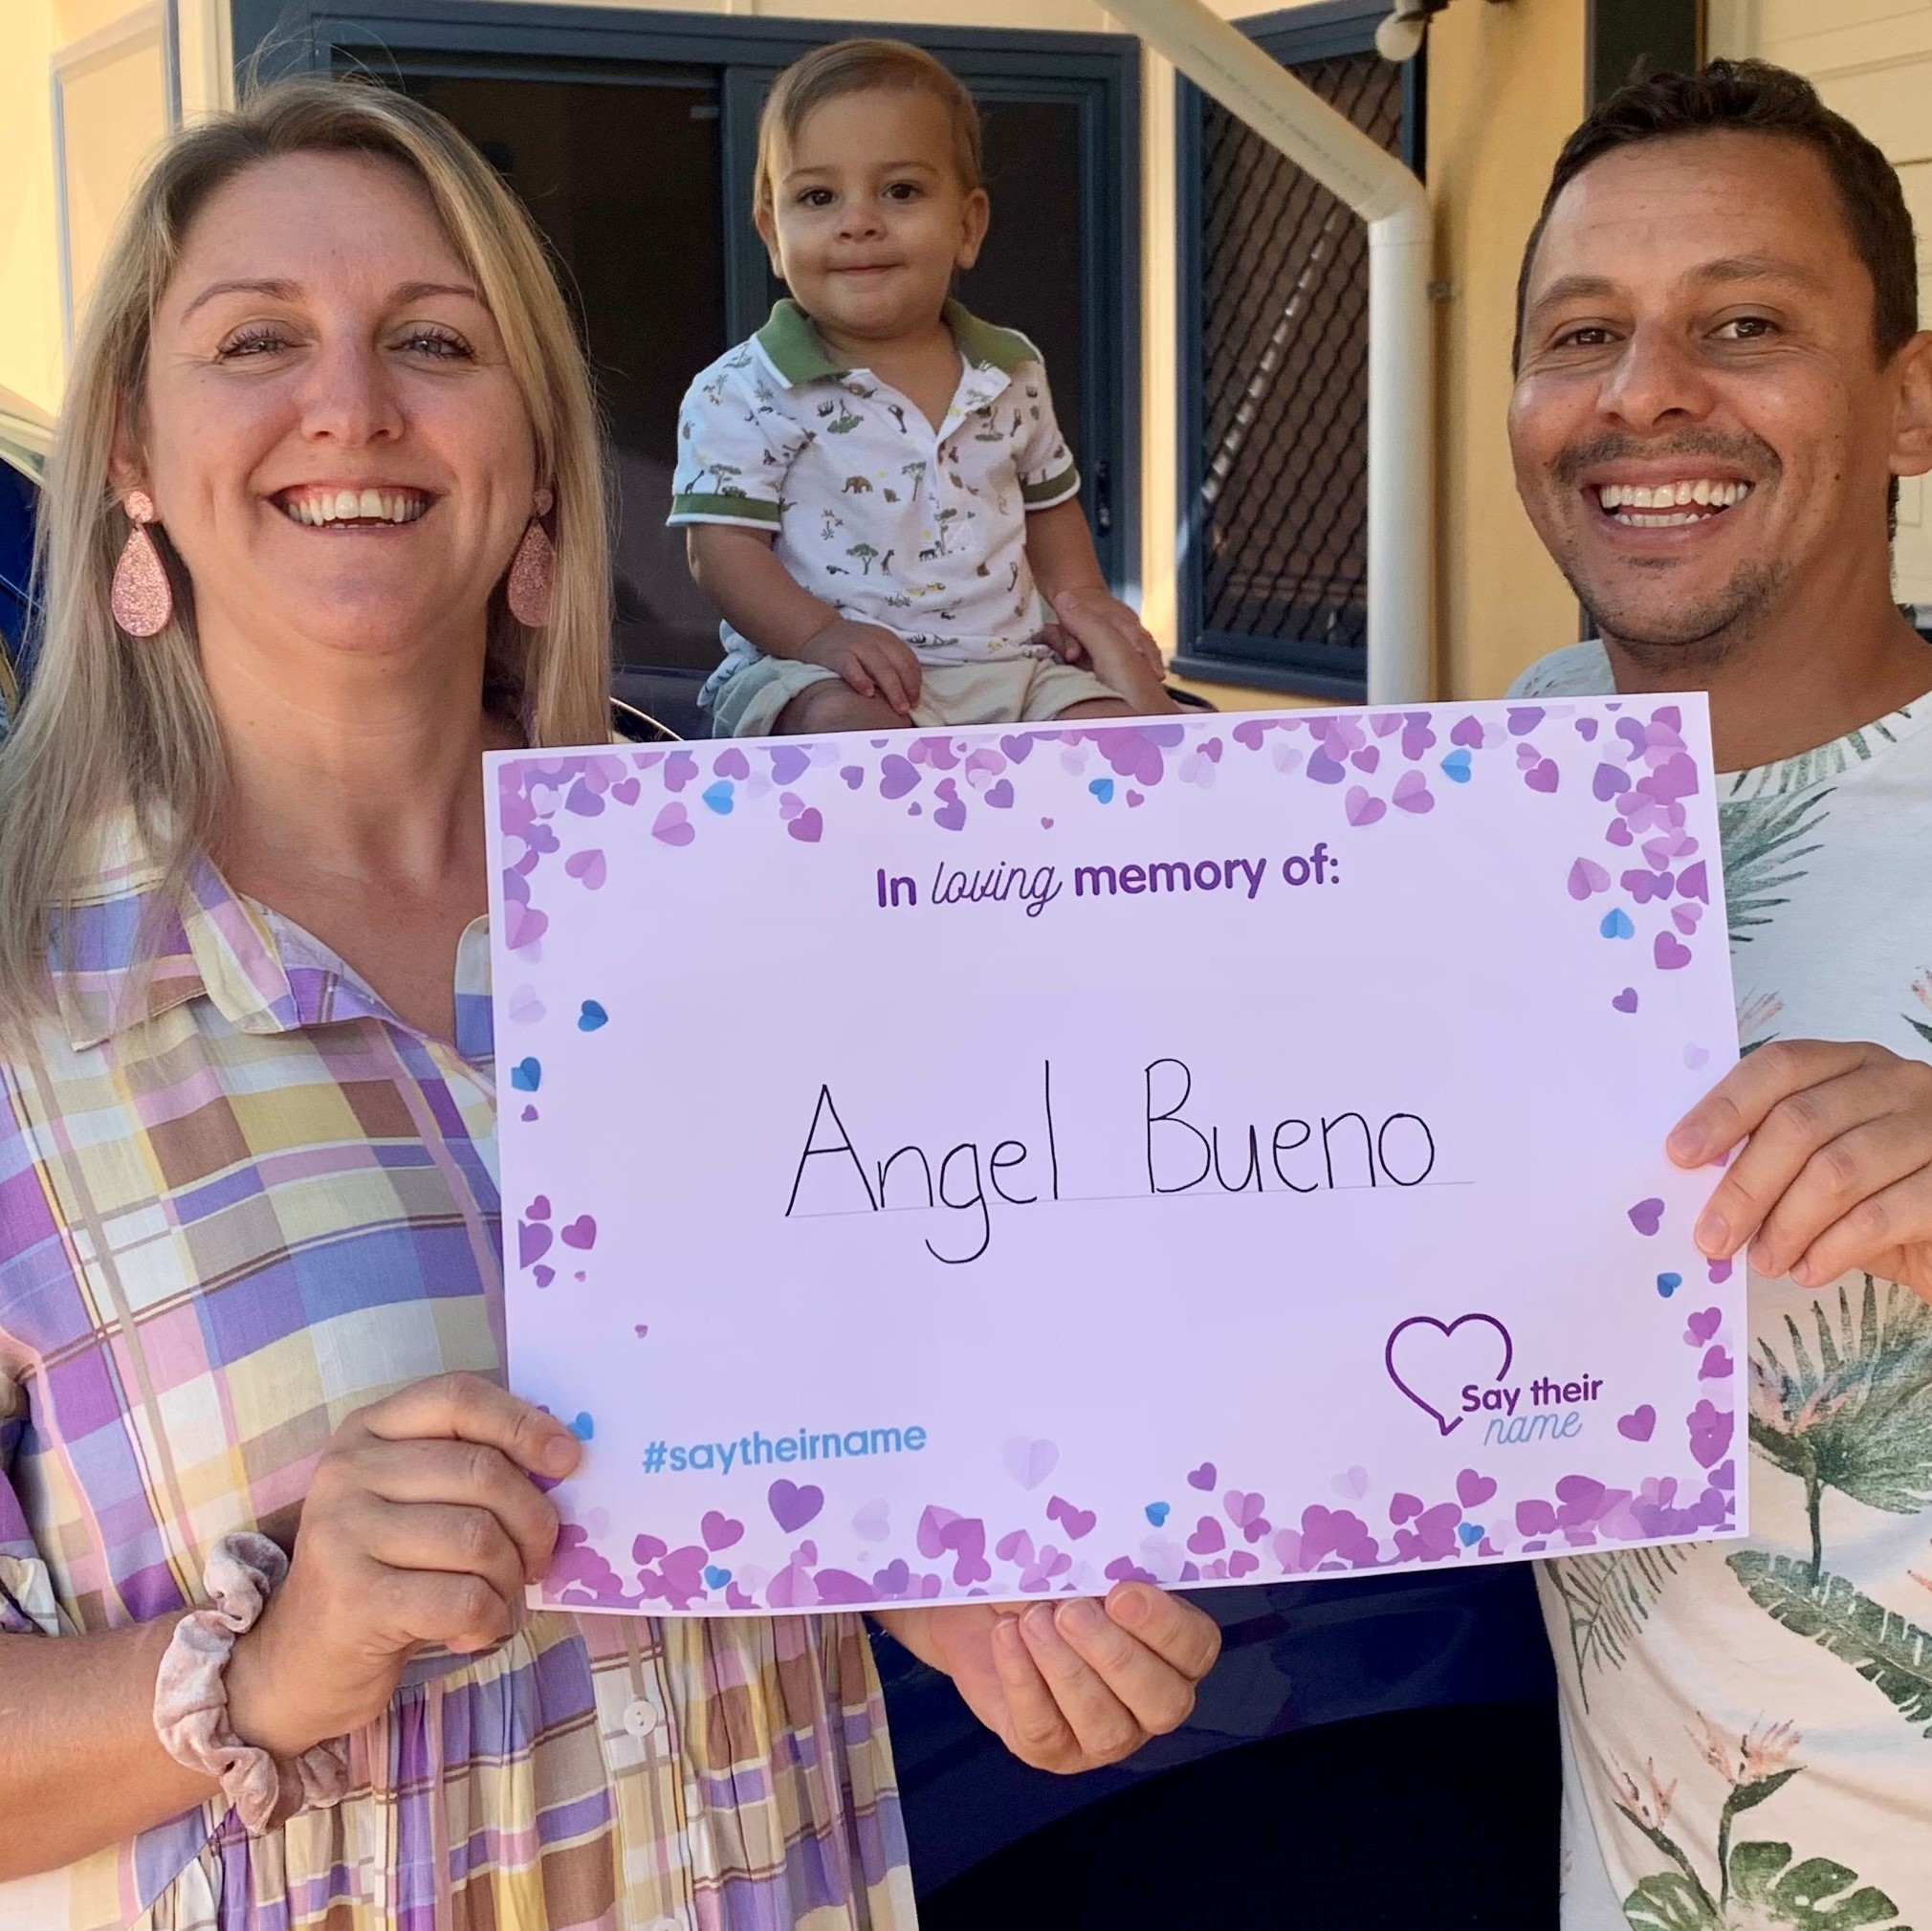
[[[949,297],[987,216],[978,112],[929,54],[842,41],[779,75],[755,220],[790,297],[678,423],[670,521],[724,614],[717,736],[1173,709],[1039,351]]]

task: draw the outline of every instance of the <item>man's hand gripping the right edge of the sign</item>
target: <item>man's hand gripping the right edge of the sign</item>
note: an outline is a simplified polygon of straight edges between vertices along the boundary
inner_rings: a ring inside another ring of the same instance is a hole
[[[1870,1041],[1774,1041],[1679,1120],[1679,1166],[1731,1162],[1696,1224],[1729,1259],[1820,1288],[1861,1267],[1932,1300],[1932,1066]]]

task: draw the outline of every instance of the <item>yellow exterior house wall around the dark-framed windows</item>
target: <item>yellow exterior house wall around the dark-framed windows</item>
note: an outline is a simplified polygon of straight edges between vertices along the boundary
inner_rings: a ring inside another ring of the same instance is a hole
[[[638,6],[639,0],[593,0]],[[653,4],[653,0],[645,0]],[[1211,0],[1238,17],[1271,12]],[[682,12],[850,25],[923,19],[1109,31],[1092,0],[678,0]],[[52,409],[62,375],[50,62],[112,31],[128,0],[0,4],[0,386]],[[232,54],[226,0],[178,0],[184,112],[220,102]],[[1530,658],[1575,635],[1577,610],[1515,500],[1503,444],[1509,307],[1520,239],[1557,145],[1580,114],[1582,0],[1461,0],[1432,29],[1430,195],[1439,222],[1437,477],[1418,477],[1416,514],[1437,519],[1437,689],[1490,695]],[[70,255],[75,292],[147,149],[162,131],[153,54],[129,50],[93,81],[73,116]],[[1173,647],[1177,624],[1177,307],[1173,70],[1142,60],[1142,529],[1140,599]],[[1204,686],[1223,707],[1279,705],[1271,693]]]

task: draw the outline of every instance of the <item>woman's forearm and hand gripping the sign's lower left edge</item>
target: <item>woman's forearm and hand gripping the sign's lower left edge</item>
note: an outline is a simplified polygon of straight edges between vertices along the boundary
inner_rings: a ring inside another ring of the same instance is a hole
[[[578,1454],[560,1423],[475,1375],[350,1415],[311,1477],[288,1578],[236,1641],[236,1734],[296,1757],[375,1721],[423,1645],[502,1641],[556,1541],[529,1477],[564,1475]],[[0,1639],[0,1877],[58,1869],[207,1798],[155,1736],[176,1620]]]

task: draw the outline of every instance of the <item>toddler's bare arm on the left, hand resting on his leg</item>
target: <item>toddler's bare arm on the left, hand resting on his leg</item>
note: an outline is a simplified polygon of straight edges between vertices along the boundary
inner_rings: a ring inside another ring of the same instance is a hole
[[[724,622],[767,657],[835,670],[860,697],[883,697],[902,716],[920,697],[920,660],[881,624],[858,624],[813,597],[773,554],[773,539],[736,523],[692,523],[684,554],[699,591]]]

